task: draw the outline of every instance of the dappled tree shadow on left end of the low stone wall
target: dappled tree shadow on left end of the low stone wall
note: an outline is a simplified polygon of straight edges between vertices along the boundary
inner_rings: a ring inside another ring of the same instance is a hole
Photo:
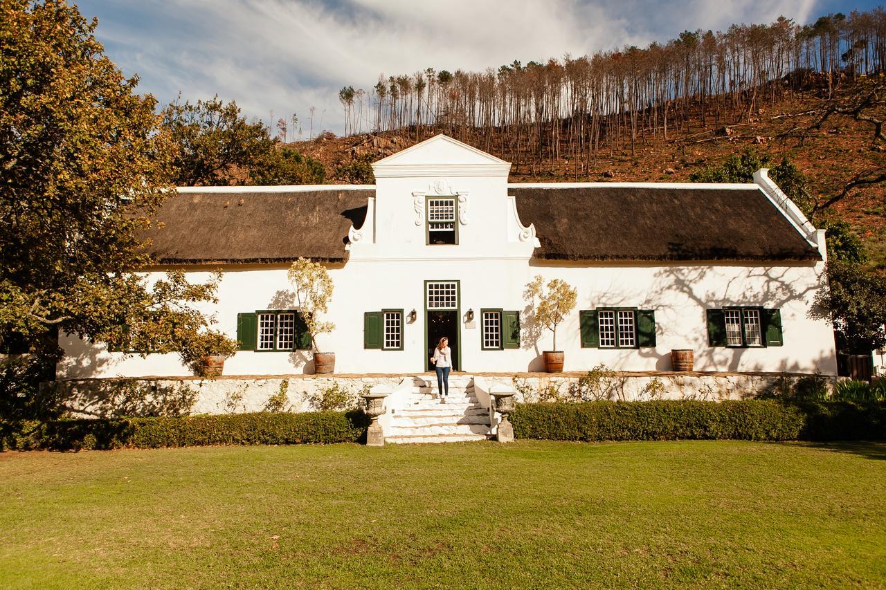
[[[115,379],[85,384],[56,384],[62,406],[75,414],[97,418],[123,416],[188,415],[197,402],[198,392],[190,382],[159,385],[144,381]]]

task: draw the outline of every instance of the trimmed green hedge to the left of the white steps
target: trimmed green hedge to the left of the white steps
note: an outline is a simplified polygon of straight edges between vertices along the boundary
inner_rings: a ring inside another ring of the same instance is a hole
[[[0,423],[0,450],[358,442],[367,425],[359,410]]]

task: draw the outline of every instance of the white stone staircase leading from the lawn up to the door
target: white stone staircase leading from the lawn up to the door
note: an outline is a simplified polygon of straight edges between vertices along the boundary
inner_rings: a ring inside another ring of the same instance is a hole
[[[474,396],[474,378],[449,376],[447,403],[437,395],[437,377],[416,377],[402,408],[392,409],[389,443],[438,443],[489,438],[489,411]]]

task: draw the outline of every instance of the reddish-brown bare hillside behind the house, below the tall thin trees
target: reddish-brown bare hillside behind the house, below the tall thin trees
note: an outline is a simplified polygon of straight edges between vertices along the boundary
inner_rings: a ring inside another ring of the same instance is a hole
[[[825,99],[819,92],[790,93],[774,105],[758,109],[753,116],[730,125],[703,125],[699,113],[688,119],[679,138],[655,145],[637,145],[629,149],[600,151],[596,165],[587,174],[577,174],[569,159],[554,159],[541,164],[532,162],[533,154],[510,159],[510,182],[688,182],[689,175],[705,166],[720,164],[730,155],[744,150],[770,157],[773,164],[788,158],[804,173],[812,195],[827,199],[838,194],[852,175],[862,169],[882,167],[886,146],[872,144],[872,128],[850,117],[832,117],[819,130],[805,133],[819,118]],[[710,120],[710,118],[709,118]],[[311,141],[291,144],[305,155],[323,162],[327,182],[349,182],[341,167],[371,162],[409,147],[438,133],[437,128],[387,131],[335,137],[331,134]],[[457,139],[486,149],[470,137]],[[489,150],[501,156],[496,150]],[[371,182],[371,181],[370,181]],[[841,202],[829,207],[820,217],[849,221],[867,245],[872,261],[886,265],[886,188],[864,187],[853,190]]]

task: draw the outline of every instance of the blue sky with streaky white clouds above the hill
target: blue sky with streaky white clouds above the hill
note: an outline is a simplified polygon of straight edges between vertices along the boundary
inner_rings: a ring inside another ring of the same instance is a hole
[[[519,59],[586,55],[780,15],[808,22],[882,2],[839,0],[81,0],[124,74],[162,104],[236,100],[268,121],[298,113],[307,137],[342,131],[338,90],[379,74],[483,70]]]

